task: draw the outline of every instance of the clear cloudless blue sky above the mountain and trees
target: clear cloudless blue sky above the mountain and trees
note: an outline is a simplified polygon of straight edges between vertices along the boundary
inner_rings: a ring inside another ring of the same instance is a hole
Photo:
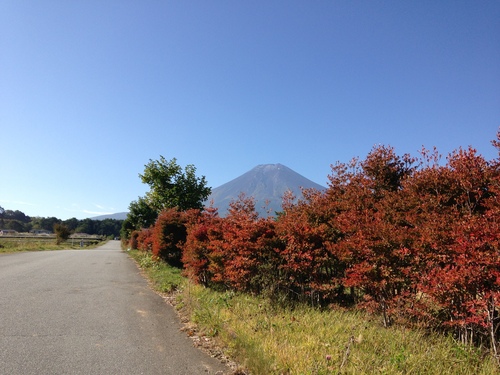
[[[500,126],[500,1],[0,1],[0,206],[127,211],[149,159],[319,184]]]

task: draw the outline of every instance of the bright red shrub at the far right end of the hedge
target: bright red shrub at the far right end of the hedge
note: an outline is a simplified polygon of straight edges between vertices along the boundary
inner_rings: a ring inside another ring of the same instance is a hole
[[[469,148],[452,153],[445,166],[420,171],[409,186],[423,208],[418,290],[434,324],[451,327],[463,342],[498,325],[492,318],[500,287],[497,179],[494,164]]]

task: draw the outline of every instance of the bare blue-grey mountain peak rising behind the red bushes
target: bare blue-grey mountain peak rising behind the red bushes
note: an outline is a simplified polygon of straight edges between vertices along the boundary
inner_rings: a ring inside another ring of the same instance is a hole
[[[207,205],[213,201],[214,207],[219,209],[219,215],[224,217],[229,203],[236,200],[240,193],[255,198],[255,209],[260,216],[266,217],[281,211],[283,194],[291,190],[297,198],[302,197],[301,188],[315,188],[325,190],[325,187],[305,178],[283,164],[261,164],[231,180],[224,185],[212,189]],[[267,208],[266,200],[269,201]]]

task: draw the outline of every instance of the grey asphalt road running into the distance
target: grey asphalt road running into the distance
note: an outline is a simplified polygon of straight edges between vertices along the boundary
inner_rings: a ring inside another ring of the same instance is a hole
[[[222,374],[118,241],[0,255],[0,374]]]

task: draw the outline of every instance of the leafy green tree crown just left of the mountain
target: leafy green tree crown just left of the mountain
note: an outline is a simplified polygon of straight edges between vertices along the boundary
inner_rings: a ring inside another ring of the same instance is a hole
[[[146,193],[148,205],[157,213],[167,208],[186,211],[192,208],[202,209],[203,202],[210,195],[205,176],[196,177],[194,165],[187,165],[184,170],[177,164],[177,159],[167,161],[149,160],[144,174],[139,174],[143,183],[150,186]]]

